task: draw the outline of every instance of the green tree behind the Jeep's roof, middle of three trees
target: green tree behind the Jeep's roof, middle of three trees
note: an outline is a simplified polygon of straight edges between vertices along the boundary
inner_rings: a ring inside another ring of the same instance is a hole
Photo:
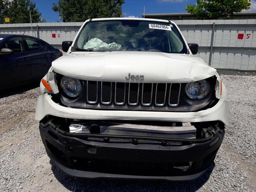
[[[63,22],[84,22],[91,18],[122,17],[124,0],[58,0],[52,10]]]

